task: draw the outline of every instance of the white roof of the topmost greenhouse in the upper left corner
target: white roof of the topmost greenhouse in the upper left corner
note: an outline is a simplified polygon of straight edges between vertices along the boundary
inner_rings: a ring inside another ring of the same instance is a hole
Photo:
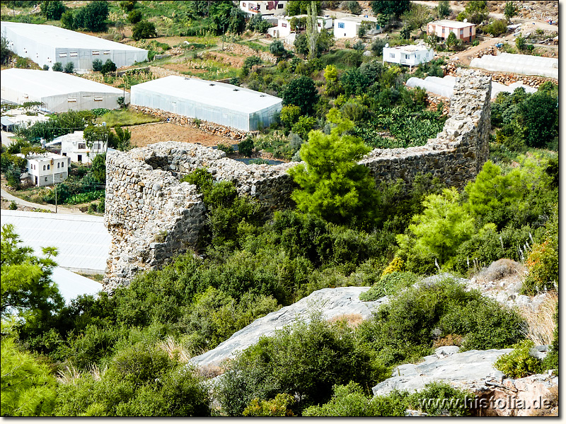
[[[53,25],[2,21],[1,26],[2,28],[10,28],[10,30],[22,37],[31,38],[38,42],[40,41],[43,45],[50,45],[52,47],[144,51],[144,49],[139,49],[138,47],[104,40],[103,38],[94,37],[93,35],[77,33],[76,31],[66,30]]]

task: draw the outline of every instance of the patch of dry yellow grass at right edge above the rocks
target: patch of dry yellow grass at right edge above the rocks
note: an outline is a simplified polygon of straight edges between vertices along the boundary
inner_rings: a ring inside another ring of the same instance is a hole
[[[529,324],[525,335],[537,346],[550,345],[553,341],[554,312],[557,303],[558,293],[551,291],[538,307],[521,306],[518,308],[519,314]]]

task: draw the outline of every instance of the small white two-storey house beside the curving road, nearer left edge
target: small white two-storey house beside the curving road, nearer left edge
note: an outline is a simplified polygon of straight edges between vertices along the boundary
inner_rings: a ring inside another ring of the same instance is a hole
[[[21,153],[19,156],[23,158]],[[36,187],[58,184],[69,177],[71,159],[56,153],[30,154],[28,160],[28,178]]]

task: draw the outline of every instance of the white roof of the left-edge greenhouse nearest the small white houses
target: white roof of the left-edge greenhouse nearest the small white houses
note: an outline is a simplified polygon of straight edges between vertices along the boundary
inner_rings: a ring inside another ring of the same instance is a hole
[[[18,87],[36,98],[87,91],[89,93],[122,94],[122,90],[103,83],[55,71],[11,68],[1,71],[3,87]]]

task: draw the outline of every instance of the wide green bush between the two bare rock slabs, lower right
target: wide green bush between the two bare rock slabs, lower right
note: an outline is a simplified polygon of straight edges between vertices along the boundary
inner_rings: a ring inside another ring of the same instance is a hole
[[[359,331],[386,365],[427,355],[435,339],[464,337],[464,348],[504,348],[524,338],[524,320],[451,279],[401,291]]]

